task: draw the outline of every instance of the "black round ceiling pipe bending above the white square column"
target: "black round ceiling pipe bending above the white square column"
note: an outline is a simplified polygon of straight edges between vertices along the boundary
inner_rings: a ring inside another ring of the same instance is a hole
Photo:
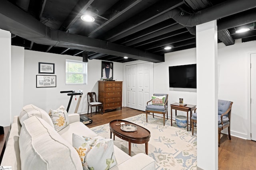
[[[174,19],[179,24],[186,27],[194,27],[208,21],[224,18],[255,7],[256,0],[229,0],[194,14],[190,14],[177,8],[168,11],[168,14],[170,18]]]

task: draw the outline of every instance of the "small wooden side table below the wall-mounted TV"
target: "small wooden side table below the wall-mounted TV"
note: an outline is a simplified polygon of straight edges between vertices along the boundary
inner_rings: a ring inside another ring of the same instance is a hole
[[[170,106],[171,106],[171,119],[172,119],[172,109],[175,109],[175,116],[177,115],[177,110],[186,111],[187,122],[188,122],[188,112],[190,111],[190,131],[191,131],[191,116],[192,116],[192,111],[196,108],[196,105],[187,104],[186,106],[183,106],[183,104],[173,103],[173,104],[170,104]],[[172,126],[172,121],[171,121],[171,126]],[[187,125],[187,131],[188,131],[188,125]]]

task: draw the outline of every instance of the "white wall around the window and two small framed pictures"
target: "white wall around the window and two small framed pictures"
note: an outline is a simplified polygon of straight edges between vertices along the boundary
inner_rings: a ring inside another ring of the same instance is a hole
[[[66,85],[65,84],[65,62],[66,59],[82,61],[82,57],[69,55],[58,55],[53,53],[43,53],[38,51],[25,50],[24,55],[24,105],[34,104],[46,111],[57,109],[60,105],[68,106],[70,96],[61,94],[60,91],[83,90],[82,100],[78,113],[87,113],[87,92],[98,94],[98,80],[101,78],[101,61],[88,61],[88,84],[86,85]],[[36,88],[36,75],[38,74],[38,63],[54,63],[56,75],[56,87]],[[122,63],[114,62],[113,78],[123,80]],[[98,96],[98,95],[97,95]],[[78,99],[78,96],[77,96]],[[75,98],[70,105],[69,113],[74,113],[76,107]],[[18,113],[19,114],[19,113]]]

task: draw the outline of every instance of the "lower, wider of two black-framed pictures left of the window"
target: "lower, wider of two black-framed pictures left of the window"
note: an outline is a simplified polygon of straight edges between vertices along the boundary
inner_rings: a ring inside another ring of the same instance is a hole
[[[36,87],[56,87],[56,76],[36,75]]]

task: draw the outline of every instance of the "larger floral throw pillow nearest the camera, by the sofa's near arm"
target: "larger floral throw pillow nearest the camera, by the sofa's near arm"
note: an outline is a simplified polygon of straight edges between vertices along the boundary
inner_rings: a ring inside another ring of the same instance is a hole
[[[72,145],[80,156],[84,170],[108,170],[117,164],[112,139],[80,137],[73,133]]]

